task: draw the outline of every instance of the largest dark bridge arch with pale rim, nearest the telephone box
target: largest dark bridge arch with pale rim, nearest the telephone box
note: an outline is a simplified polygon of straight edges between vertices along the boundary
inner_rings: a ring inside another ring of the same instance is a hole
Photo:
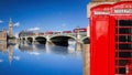
[[[69,39],[76,40],[76,38],[72,35],[54,35],[50,38],[52,43],[54,43],[55,45],[61,45],[61,46],[68,46]]]

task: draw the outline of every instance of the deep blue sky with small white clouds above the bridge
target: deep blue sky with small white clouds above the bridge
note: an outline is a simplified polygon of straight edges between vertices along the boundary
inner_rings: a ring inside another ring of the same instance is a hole
[[[0,30],[13,21],[13,32],[22,30],[66,31],[88,25],[89,0],[0,0]]]

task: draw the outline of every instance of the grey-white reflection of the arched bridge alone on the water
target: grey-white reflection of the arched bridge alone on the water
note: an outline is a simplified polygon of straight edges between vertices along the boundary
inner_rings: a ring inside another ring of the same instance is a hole
[[[44,45],[44,44],[20,43],[19,45],[16,44],[15,49],[19,49],[22,52],[42,51],[42,52],[55,53],[55,54],[72,54],[76,52],[74,44],[70,44],[70,46],[65,47],[65,46],[53,46],[53,45]]]

